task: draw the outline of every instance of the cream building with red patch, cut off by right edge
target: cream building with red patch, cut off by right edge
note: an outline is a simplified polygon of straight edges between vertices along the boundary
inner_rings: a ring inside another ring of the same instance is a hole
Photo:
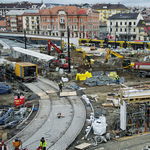
[[[137,40],[150,41],[150,20],[140,20],[136,32]]]

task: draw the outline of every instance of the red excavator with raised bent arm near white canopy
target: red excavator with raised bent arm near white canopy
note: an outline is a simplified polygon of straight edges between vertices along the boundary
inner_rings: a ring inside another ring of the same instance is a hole
[[[52,43],[51,40],[49,40],[47,44],[48,44],[49,54],[50,54],[51,46],[53,46],[58,52],[58,58],[51,60],[50,65],[53,64],[59,66],[59,68],[68,68],[68,63],[66,63],[66,61],[68,61],[68,56],[63,54],[62,51],[55,44]]]

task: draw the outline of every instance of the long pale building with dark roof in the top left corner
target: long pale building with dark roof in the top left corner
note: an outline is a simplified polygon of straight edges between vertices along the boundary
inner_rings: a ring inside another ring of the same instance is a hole
[[[0,16],[5,17],[5,15],[10,10],[26,10],[26,9],[45,9],[46,5],[41,3],[29,3],[28,1],[17,2],[17,3],[0,3]]]

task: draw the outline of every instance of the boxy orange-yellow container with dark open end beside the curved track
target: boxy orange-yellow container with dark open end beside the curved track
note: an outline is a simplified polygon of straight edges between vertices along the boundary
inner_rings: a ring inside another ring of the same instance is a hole
[[[34,80],[38,76],[37,65],[30,62],[17,62],[15,63],[15,75],[22,81]]]

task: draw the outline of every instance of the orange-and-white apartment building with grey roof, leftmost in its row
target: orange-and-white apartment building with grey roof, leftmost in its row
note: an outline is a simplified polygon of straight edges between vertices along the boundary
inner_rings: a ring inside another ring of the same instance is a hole
[[[13,32],[23,31],[23,18],[22,15],[24,10],[10,10],[6,14],[6,30],[11,30]]]

